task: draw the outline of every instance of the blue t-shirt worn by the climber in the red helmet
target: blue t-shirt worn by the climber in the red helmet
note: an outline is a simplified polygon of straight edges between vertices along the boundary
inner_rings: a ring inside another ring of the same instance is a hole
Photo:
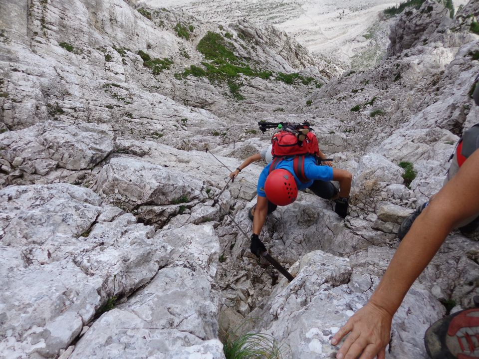
[[[294,173],[294,168],[293,168],[293,160],[294,158],[289,158],[289,159],[284,159],[281,162],[278,163],[276,166],[276,170],[279,169],[284,169],[291,173],[296,180],[296,185],[298,186],[298,189],[306,189],[311,184],[313,184],[314,179],[320,179],[323,181],[329,181],[333,179],[333,168],[329,166],[318,166],[316,165],[316,159],[313,156],[307,156],[304,159],[304,174],[306,175],[306,178],[310,179],[306,183],[302,183]],[[256,192],[258,193],[258,196],[260,197],[266,197],[266,193],[264,193],[264,183],[266,182],[266,177],[268,177],[269,174],[269,167],[271,164],[269,163],[263,171],[261,171],[261,174],[259,175],[258,179],[258,184],[256,187]]]

